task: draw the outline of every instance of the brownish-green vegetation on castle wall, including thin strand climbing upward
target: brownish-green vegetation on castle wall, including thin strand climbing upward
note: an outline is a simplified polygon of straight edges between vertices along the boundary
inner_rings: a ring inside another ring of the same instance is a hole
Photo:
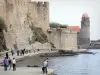
[[[43,32],[43,30],[39,27],[36,27],[32,21],[30,13],[27,13],[26,22],[29,24],[30,29],[32,30],[33,36],[32,38],[28,38],[29,44],[40,42],[40,43],[46,43],[48,42],[46,34]]]

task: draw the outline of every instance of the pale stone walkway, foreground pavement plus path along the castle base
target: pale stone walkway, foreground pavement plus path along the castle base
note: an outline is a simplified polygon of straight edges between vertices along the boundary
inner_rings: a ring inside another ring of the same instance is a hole
[[[52,53],[55,51],[37,51],[37,52],[31,52],[28,54],[25,54],[24,56],[17,56],[16,54],[13,56],[14,58],[16,58],[16,60],[19,60],[21,58],[25,58],[27,56],[35,56],[37,54],[40,53]],[[10,58],[13,58],[12,56],[10,56]],[[0,57],[0,63],[2,63],[2,61],[4,60],[4,57]],[[30,67],[18,67],[16,71],[12,71],[12,70],[8,70],[8,71],[4,71],[3,67],[0,67],[0,75],[43,75],[42,73],[42,69],[41,68],[30,68]],[[45,75],[45,74],[44,74]],[[47,75],[54,75],[54,70],[52,69],[48,69],[48,74]]]

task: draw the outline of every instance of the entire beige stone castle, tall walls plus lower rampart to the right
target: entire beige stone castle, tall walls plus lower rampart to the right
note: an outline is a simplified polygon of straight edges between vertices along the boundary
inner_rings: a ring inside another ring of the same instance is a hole
[[[7,32],[4,31],[6,46],[8,49],[32,49],[51,48],[52,44],[57,49],[77,49],[77,32],[65,29],[49,29],[49,3],[31,2],[31,0],[0,0],[0,16],[5,20]],[[33,32],[30,26],[42,28],[48,36],[48,42],[42,44],[32,40]]]

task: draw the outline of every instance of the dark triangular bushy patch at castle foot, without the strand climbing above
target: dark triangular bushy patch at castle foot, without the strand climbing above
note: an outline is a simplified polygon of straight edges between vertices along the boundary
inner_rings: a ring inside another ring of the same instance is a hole
[[[35,27],[34,24],[30,25],[30,28],[33,32],[32,39],[29,39],[29,43],[32,44],[34,42],[40,42],[40,43],[46,43],[48,42],[46,34],[43,32],[43,30],[39,27]]]

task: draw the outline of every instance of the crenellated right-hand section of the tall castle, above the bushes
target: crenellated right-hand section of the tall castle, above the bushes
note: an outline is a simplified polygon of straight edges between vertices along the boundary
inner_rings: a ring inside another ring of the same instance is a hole
[[[44,31],[49,29],[49,3],[48,2],[29,2],[29,14],[33,23],[41,27]]]

